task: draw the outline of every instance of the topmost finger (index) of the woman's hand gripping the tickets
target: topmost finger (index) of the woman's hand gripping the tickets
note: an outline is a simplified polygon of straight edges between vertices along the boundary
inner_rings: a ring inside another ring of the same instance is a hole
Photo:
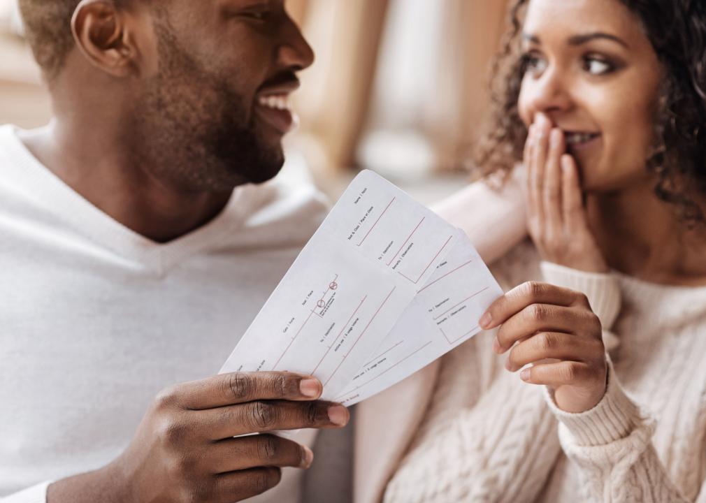
[[[549,283],[528,281],[496,299],[481,317],[479,325],[484,330],[495,328],[532,304],[589,307],[587,298],[582,293]]]

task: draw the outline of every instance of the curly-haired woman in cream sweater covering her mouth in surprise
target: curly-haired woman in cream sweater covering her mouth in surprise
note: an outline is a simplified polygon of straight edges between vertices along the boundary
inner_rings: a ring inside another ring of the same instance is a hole
[[[517,0],[513,19],[484,168],[522,162],[531,240],[493,262],[510,291],[488,331],[368,405],[417,414],[377,442],[377,487],[706,502],[706,5]]]

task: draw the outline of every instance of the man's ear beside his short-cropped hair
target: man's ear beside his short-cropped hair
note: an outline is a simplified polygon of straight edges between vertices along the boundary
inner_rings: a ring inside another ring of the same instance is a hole
[[[83,0],[71,20],[78,49],[93,66],[116,77],[137,70],[136,40],[127,29],[127,20],[112,0]]]

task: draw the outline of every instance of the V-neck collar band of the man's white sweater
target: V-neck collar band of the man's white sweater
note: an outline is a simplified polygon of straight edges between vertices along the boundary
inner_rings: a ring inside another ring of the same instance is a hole
[[[226,207],[208,224],[168,243],[157,243],[128,229],[64,183],[28,150],[18,131],[14,126],[0,128],[0,145],[9,157],[2,174],[13,188],[78,234],[157,275],[167,274],[182,260],[237,231],[256,202],[255,191],[249,186],[236,188]]]

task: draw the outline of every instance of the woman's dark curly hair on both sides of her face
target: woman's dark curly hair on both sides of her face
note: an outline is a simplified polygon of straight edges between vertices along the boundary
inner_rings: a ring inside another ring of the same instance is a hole
[[[657,176],[655,194],[673,204],[690,228],[706,224],[703,209],[694,199],[706,195],[706,1],[620,1],[642,22],[664,68],[654,152],[647,159],[647,169]],[[493,119],[476,159],[482,176],[498,171],[507,174],[522,159],[527,128],[517,100],[525,64],[518,49],[528,3],[515,1],[511,28],[493,63]]]

